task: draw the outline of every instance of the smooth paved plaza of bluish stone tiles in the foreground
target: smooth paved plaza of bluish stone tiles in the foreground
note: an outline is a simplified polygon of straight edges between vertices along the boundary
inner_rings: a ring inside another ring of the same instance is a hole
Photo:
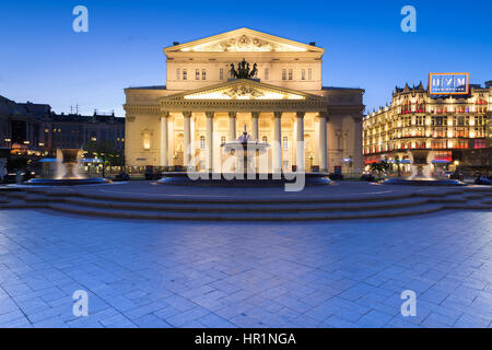
[[[72,294],[89,293],[89,316]],[[400,294],[417,293],[403,317]],[[0,327],[492,327],[492,212],[314,223],[0,211]]]

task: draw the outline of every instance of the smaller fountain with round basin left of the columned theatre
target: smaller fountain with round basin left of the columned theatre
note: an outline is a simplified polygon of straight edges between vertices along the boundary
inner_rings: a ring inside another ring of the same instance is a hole
[[[25,185],[71,186],[109,183],[103,177],[84,177],[80,174],[82,151],[80,149],[57,150],[57,172],[55,178],[32,178]]]

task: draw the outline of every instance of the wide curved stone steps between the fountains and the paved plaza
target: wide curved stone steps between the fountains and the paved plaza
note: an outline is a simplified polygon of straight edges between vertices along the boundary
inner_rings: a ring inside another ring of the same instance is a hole
[[[74,190],[0,190],[0,209],[52,211],[133,220],[308,221],[418,215],[445,209],[491,210],[492,188],[465,187],[401,195],[309,198],[138,197]]]

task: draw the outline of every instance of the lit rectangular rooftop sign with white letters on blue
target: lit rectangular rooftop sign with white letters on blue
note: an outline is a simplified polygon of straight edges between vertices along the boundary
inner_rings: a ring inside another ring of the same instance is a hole
[[[469,73],[430,73],[431,95],[466,95],[469,92]]]

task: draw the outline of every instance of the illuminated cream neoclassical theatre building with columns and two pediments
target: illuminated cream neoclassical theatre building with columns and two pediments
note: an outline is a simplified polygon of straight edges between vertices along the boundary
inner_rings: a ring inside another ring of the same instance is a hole
[[[239,28],[164,54],[166,85],[125,90],[128,166],[218,172],[221,144],[246,126],[271,144],[270,171],[362,171],[364,91],[323,86],[325,50],[314,43]],[[243,60],[248,79],[233,73]]]

